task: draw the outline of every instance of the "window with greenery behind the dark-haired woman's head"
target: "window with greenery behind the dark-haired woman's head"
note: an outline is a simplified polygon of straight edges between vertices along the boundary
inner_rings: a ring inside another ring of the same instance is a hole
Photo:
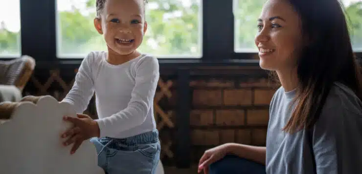
[[[342,0],[349,17],[351,39],[355,52],[362,51],[362,0]],[[254,37],[265,0],[234,0],[235,52],[256,52]]]

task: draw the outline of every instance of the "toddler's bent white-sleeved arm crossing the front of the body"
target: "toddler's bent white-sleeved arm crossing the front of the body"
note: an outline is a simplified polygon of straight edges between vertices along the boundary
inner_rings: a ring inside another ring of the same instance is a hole
[[[127,108],[112,116],[96,120],[100,129],[100,137],[112,137],[145,121],[150,108],[153,107],[158,78],[157,58],[144,58],[136,67],[136,84]]]

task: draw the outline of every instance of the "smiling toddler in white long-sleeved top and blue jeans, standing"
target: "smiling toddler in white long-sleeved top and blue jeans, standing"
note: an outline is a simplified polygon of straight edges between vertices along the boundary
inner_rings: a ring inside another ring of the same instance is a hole
[[[145,0],[97,0],[95,29],[103,35],[107,52],[91,52],[83,59],[75,82],[63,102],[86,110],[96,95],[99,119],[77,114],[61,136],[71,154],[90,139],[98,165],[107,174],[154,174],[160,143],[153,112],[159,78],[158,59],[136,49],[147,30]]]

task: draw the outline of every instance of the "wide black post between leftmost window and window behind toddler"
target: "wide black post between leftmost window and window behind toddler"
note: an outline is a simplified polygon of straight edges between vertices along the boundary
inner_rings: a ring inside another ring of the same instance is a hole
[[[55,0],[20,0],[22,55],[56,61]]]

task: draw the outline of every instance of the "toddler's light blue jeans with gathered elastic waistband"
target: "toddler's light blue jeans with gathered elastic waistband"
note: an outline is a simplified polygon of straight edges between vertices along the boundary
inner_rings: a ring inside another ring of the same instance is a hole
[[[91,138],[91,142],[106,174],[155,174],[161,150],[156,129],[122,139]]]

